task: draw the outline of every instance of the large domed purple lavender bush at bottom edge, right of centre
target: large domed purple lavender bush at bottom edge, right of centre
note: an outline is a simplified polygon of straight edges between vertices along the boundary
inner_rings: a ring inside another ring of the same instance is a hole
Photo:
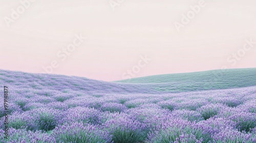
[[[211,137],[202,128],[196,126],[195,122],[172,119],[148,133],[147,140],[163,143],[183,142],[185,140],[189,142],[208,142]]]

